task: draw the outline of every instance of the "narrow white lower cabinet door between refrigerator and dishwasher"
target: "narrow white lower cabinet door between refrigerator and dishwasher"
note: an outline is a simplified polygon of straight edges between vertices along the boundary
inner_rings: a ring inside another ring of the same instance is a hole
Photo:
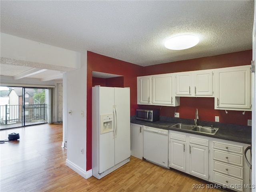
[[[134,123],[131,123],[131,155],[139,159],[143,157],[142,125]]]

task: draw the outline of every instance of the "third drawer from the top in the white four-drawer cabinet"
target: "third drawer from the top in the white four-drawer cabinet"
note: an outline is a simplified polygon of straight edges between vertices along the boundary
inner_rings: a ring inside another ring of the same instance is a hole
[[[243,179],[243,168],[242,167],[238,167],[238,166],[234,166],[234,165],[230,165],[230,164],[226,164],[226,163],[222,163],[222,162],[218,162],[218,161],[214,161],[214,170],[232,177],[236,177],[239,179]]]

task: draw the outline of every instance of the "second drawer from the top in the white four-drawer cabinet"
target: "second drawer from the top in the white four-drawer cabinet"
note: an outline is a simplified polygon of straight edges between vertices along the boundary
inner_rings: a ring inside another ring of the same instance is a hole
[[[237,166],[243,166],[243,155],[214,150],[214,160],[230,163]]]

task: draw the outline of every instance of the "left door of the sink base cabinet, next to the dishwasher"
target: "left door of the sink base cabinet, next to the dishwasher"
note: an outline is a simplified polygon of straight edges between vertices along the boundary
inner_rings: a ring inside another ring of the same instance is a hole
[[[170,139],[169,167],[186,171],[186,142]]]

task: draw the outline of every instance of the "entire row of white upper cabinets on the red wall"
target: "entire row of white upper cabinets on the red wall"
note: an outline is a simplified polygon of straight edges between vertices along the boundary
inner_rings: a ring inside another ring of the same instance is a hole
[[[137,104],[179,106],[180,97],[214,97],[214,109],[251,111],[250,65],[137,77]]]

